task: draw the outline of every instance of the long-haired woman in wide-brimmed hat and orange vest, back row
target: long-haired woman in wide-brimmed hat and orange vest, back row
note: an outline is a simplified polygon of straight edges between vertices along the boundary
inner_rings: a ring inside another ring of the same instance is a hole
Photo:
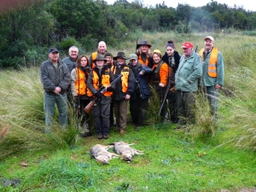
[[[147,41],[142,41],[140,44],[137,44],[136,55],[137,60],[145,66],[152,67],[153,60],[150,52],[151,44],[148,44]]]

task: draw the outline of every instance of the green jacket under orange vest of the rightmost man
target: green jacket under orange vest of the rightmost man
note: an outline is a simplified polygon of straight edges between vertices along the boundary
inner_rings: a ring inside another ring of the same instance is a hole
[[[212,78],[208,75],[208,63],[210,60],[211,53],[207,55],[204,63],[202,64],[202,82],[204,86],[214,86],[215,84],[224,84],[224,59],[223,55],[218,51],[217,61],[217,78]]]

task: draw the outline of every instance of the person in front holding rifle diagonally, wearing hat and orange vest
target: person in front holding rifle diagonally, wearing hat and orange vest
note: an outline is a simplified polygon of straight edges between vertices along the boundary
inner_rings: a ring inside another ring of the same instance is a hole
[[[87,80],[88,89],[91,91],[91,100],[96,97],[92,113],[95,120],[97,138],[108,139],[110,103],[115,85],[108,87],[107,91],[103,93],[98,90],[107,87],[114,80],[114,77],[110,68],[104,65],[106,62],[104,55],[98,54],[93,62],[96,63],[96,67],[91,70]]]

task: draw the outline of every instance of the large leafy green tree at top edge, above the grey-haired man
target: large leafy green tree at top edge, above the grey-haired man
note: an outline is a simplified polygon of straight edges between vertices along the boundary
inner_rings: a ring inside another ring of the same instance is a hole
[[[60,25],[62,37],[82,38],[87,34],[101,31],[102,11],[91,0],[54,0],[49,4],[49,12]]]

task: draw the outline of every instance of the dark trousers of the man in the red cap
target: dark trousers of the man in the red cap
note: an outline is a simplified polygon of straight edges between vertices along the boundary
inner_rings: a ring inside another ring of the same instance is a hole
[[[177,90],[178,125],[195,123],[195,92]]]

